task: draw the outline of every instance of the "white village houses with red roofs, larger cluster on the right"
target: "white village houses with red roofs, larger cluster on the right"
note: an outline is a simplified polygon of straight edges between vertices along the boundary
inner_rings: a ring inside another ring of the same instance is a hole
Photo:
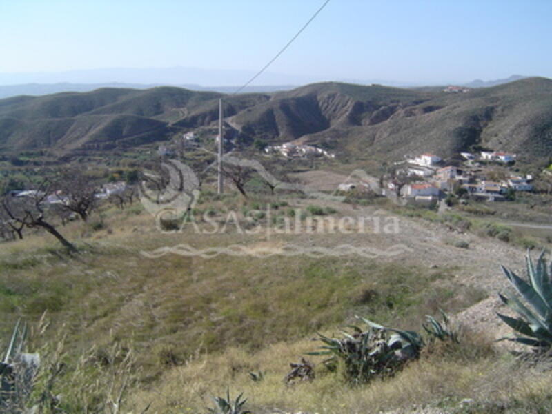
[[[509,163],[515,160],[515,154],[506,152],[482,152],[476,157],[469,152],[462,152],[462,157],[468,161],[475,159]],[[403,164],[403,163],[397,163]],[[500,181],[489,179],[485,170],[478,169],[471,162],[465,167],[444,166],[440,157],[434,154],[422,154],[406,159],[402,171],[408,177],[416,177],[420,181],[406,184],[400,189],[403,197],[416,200],[433,200],[442,197],[443,193],[464,188],[475,199],[502,201],[505,193],[511,190],[531,191],[531,176],[510,175]],[[390,182],[388,188],[396,190],[397,184]]]

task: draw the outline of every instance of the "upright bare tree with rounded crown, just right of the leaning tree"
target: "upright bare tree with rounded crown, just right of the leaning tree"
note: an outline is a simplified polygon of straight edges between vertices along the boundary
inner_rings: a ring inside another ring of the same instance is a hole
[[[86,221],[97,205],[100,186],[80,170],[71,168],[61,172],[55,180],[55,190],[59,205]]]

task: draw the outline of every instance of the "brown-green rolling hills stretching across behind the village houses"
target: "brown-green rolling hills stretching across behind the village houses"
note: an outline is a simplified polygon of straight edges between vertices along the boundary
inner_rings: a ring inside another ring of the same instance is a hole
[[[11,97],[0,100],[0,154],[111,151],[214,128],[219,97],[244,146],[298,140],[337,159],[381,161],[478,148],[517,152],[526,164],[552,156],[552,80],[535,77],[457,94],[326,82],[241,95],[159,87]]]

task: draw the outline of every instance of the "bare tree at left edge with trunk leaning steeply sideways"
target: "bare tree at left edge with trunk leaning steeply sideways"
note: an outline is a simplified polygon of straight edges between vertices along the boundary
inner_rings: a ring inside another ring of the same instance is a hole
[[[17,226],[27,228],[43,228],[53,235],[63,246],[74,252],[75,246],[59,233],[50,220],[45,217],[46,197],[49,190],[48,182],[43,183],[34,191],[31,191],[24,197],[13,197],[7,195],[3,197],[1,206],[3,211],[9,217],[10,221]]]

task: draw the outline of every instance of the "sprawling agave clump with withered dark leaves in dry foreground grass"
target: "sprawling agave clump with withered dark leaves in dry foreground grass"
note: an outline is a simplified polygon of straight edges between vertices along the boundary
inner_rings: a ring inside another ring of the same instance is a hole
[[[357,316],[357,319],[368,325],[367,331],[348,326],[355,333],[342,331],[342,339],[319,333],[319,340],[324,343],[321,351],[308,354],[330,355],[323,363],[331,369],[343,364],[345,377],[357,384],[368,382],[376,375],[391,375],[408,359],[420,355],[424,342],[417,333],[386,328],[363,317]]]

